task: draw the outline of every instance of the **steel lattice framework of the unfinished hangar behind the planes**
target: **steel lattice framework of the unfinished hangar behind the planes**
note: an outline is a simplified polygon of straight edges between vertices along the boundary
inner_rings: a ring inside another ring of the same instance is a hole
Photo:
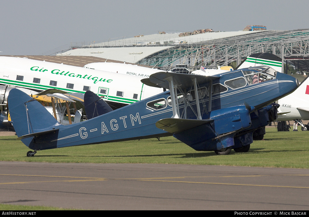
[[[232,66],[235,68],[252,53],[268,52],[284,63],[309,71],[309,29],[265,31],[255,34],[175,45],[151,54],[137,64],[171,70],[185,64],[191,70],[201,66]]]

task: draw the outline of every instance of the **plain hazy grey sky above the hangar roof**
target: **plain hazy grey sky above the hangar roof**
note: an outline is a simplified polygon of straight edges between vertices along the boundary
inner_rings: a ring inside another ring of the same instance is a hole
[[[0,55],[49,55],[74,43],[159,32],[309,28],[308,0],[0,0]]]

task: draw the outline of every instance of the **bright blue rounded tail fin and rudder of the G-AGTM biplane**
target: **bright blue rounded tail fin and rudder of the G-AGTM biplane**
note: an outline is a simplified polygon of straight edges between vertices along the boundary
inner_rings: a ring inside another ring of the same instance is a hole
[[[19,89],[10,91],[8,107],[18,137],[51,130],[60,125],[44,106]]]

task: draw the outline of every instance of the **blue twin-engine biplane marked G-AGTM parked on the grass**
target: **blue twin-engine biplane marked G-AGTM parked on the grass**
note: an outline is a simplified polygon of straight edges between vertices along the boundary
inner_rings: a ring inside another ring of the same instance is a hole
[[[257,79],[256,79],[257,78]],[[8,108],[18,139],[33,151],[173,135],[198,151],[248,152],[252,133],[269,123],[272,102],[293,92],[298,80],[271,67],[215,76],[158,72],[144,84],[169,89],[112,111],[86,92],[88,120],[61,125],[29,95],[12,89]],[[100,104],[100,105],[99,105]],[[95,108],[95,109],[93,109]]]

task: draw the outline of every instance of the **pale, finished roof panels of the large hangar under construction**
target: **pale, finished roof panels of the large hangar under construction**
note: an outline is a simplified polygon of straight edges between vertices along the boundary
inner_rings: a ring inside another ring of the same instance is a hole
[[[266,32],[269,30],[266,30]],[[72,46],[71,50],[57,56],[93,56],[122,62],[137,63],[160,51],[179,44],[194,44],[222,38],[250,35],[265,31],[208,32],[180,37],[180,33],[152,34],[133,38]]]

